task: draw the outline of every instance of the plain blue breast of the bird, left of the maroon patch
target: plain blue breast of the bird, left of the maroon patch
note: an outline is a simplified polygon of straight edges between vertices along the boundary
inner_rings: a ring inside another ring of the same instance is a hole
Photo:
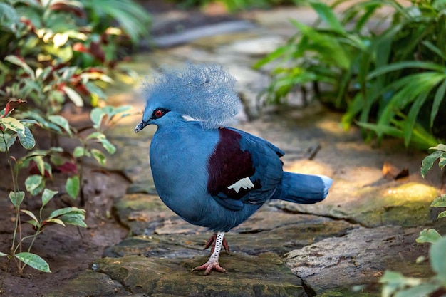
[[[207,162],[218,138],[212,131],[176,129],[155,132],[150,144],[150,166],[163,202],[187,220],[200,216],[206,203]]]

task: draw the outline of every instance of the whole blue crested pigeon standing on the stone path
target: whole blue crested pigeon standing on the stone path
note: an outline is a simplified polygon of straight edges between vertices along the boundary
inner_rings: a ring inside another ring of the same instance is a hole
[[[328,194],[331,179],[282,170],[279,148],[224,127],[239,111],[234,79],[216,66],[189,65],[157,78],[147,91],[139,132],[157,125],[150,166],[162,201],[191,224],[217,232],[209,261],[215,269],[224,232],[244,222],[269,199],[312,204]]]

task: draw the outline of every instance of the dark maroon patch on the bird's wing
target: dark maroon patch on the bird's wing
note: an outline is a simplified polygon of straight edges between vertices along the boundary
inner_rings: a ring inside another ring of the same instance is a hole
[[[250,189],[228,189],[244,177],[251,177],[255,172],[251,152],[240,147],[239,133],[227,128],[219,128],[219,142],[214,153],[209,157],[209,182],[207,190],[213,196],[220,192],[232,199],[243,197]],[[254,188],[259,188],[259,181],[253,182]]]

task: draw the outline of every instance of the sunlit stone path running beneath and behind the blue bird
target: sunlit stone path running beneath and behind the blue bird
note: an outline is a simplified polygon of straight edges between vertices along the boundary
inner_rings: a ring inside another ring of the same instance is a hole
[[[435,173],[432,180],[420,177],[422,154],[393,140],[373,148],[355,128],[341,129],[341,115],[317,103],[259,113],[256,96],[269,77],[251,65],[294,33],[289,17],[311,23],[314,14],[308,9],[252,12],[244,15],[243,30],[224,29],[182,45],[175,41],[173,48],[135,56],[128,66],[144,81],[162,65],[222,64],[239,81],[247,111],[237,127],[281,147],[286,170],[333,177],[326,200],[265,205],[227,234],[232,251],[220,261],[227,274],[192,272],[209,256],[202,246],[211,233],[183,222],[156,196],[148,160],[155,128],[135,135],[140,115],[126,118],[109,133],[118,146],[109,166],[133,181],[113,207],[129,236],[50,296],[380,296],[377,281],[385,269],[430,275],[426,262],[415,264],[427,254],[427,246],[415,238],[436,217],[430,202],[438,192],[432,184],[439,180]],[[118,85],[110,90],[110,102],[138,111],[144,105],[138,86]],[[388,181],[384,162],[407,167],[409,177]]]

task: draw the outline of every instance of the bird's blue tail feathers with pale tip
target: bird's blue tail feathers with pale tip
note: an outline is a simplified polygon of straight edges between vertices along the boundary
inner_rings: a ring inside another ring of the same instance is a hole
[[[313,204],[327,197],[333,180],[325,175],[284,172],[284,177],[273,199],[294,203]]]

